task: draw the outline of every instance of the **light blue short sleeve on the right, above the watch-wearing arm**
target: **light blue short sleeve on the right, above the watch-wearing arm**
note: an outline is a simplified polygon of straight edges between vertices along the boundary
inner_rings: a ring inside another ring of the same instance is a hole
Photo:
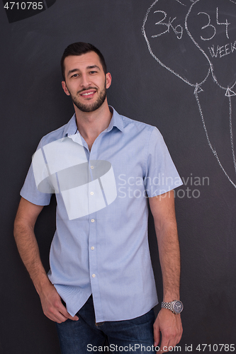
[[[156,127],[152,130],[147,147],[147,168],[145,189],[152,198],[169,192],[182,185],[179,173],[174,166],[167,145]]]

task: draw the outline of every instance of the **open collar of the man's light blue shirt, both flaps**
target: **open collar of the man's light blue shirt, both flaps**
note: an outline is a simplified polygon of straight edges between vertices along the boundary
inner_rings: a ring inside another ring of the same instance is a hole
[[[112,113],[111,117],[111,122],[108,125],[106,132],[110,132],[113,127],[117,127],[120,132],[123,132],[124,130],[124,125],[123,125],[123,117],[122,115],[119,115],[119,113],[116,112],[116,110],[109,105],[110,112]],[[75,113],[72,116],[72,118],[69,120],[69,122],[64,126],[64,133],[63,136],[70,136],[76,134],[78,131],[77,129],[77,120],[75,117]]]

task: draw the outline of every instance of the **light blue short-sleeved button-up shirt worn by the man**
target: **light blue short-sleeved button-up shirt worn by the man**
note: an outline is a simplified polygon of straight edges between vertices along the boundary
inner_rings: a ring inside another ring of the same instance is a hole
[[[35,205],[56,194],[48,277],[72,316],[92,294],[96,322],[133,319],[157,304],[147,201],[182,184],[159,130],[110,110],[90,152],[75,115],[45,135],[21,190]]]

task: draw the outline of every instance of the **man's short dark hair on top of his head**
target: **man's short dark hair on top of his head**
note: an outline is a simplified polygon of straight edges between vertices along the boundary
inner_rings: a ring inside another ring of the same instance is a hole
[[[100,50],[98,50],[98,48],[94,47],[94,45],[91,45],[90,43],[75,42],[75,43],[72,43],[71,45],[68,45],[68,47],[64,50],[64,53],[62,55],[61,69],[62,69],[62,77],[63,77],[64,81],[65,81],[64,59],[66,57],[69,57],[69,55],[82,55],[82,54],[86,54],[89,52],[96,52],[96,54],[99,55],[101,65],[103,67],[103,72],[106,74],[106,62],[105,62],[105,59],[104,59],[103,55],[101,54]]]

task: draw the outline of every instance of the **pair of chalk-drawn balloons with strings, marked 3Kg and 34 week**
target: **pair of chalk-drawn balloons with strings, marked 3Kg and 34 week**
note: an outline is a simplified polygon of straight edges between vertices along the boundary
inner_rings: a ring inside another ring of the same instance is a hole
[[[236,60],[232,60],[236,54],[235,6],[236,0],[155,0],[145,14],[142,34],[150,55],[193,87],[208,145],[225,176],[236,188],[232,130],[232,100],[236,96]],[[222,90],[222,98],[226,96],[228,100],[227,129],[234,176],[227,173],[225,161],[219,158],[210,141],[211,127],[206,127],[207,117],[204,117],[200,98],[209,78]]]

